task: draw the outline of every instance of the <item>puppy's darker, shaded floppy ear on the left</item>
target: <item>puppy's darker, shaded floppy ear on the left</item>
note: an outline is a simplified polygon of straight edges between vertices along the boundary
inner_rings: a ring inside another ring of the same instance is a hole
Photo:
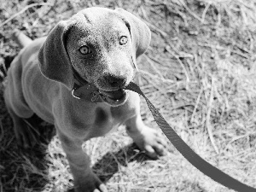
[[[66,40],[71,26],[68,20],[60,21],[49,32],[38,54],[39,66],[44,76],[65,84],[69,90],[73,88],[73,71],[67,55]]]

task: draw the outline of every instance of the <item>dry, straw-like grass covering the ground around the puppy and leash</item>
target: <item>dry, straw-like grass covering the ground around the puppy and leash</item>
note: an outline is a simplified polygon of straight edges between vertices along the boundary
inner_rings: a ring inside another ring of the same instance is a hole
[[[195,152],[212,165],[256,187],[255,0],[3,1],[0,8],[0,77],[19,48],[15,28],[31,38],[49,32],[79,9],[123,7],[152,31],[139,60],[148,98]],[[51,125],[38,121],[42,145],[17,147],[0,99],[0,191],[65,191],[73,186],[67,160]],[[142,115],[157,125],[145,102]],[[47,129],[46,129],[47,128]],[[160,160],[139,152],[123,128],[84,143],[96,174],[109,191],[232,191],[204,176],[175,148]]]

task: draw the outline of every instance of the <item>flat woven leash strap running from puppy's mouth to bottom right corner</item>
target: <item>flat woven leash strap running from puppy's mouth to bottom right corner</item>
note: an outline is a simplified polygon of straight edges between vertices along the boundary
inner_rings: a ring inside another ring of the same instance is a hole
[[[211,177],[214,181],[223,184],[225,187],[234,189],[238,192],[256,192],[256,189],[239,182],[233,177],[230,177],[226,173],[218,170],[215,166],[212,166],[206,160],[203,160],[201,156],[196,154],[189,146],[183,142],[183,139],[177,135],[172,127],[166,122],[166,119],[160,114],[157,108],[148,100],[147,96],[143,94],[143,91],[137,86],[137,84],[130,83],[125,87],[125,90],[132,90],[143,96],[148,104],[148,108],[154,116],[156,123],[160,126],[160,129],[166,134],[166,137],[170,140],[175,148],[183,155],[184,158],[199,169],[201,172]]]

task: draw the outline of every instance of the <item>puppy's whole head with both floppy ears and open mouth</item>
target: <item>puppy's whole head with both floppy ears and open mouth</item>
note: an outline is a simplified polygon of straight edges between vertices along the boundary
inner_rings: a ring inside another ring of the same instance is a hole
[[[45,77],[72,90],[73,70],[94,84],[108,104],[125,102],[123,88],[136,73],[136,58],[150,43],[150,30],[124,9],[89,8],[49,32],[38,59]]]

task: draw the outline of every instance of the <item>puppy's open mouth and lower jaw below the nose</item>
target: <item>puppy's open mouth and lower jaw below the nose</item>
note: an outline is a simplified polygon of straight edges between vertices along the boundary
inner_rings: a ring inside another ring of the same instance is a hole
[[[126,90],[119,89],[113,91],[99,90],[103,102],[107,102],[113,107],[124,104],[127,101],[128,94]]]

